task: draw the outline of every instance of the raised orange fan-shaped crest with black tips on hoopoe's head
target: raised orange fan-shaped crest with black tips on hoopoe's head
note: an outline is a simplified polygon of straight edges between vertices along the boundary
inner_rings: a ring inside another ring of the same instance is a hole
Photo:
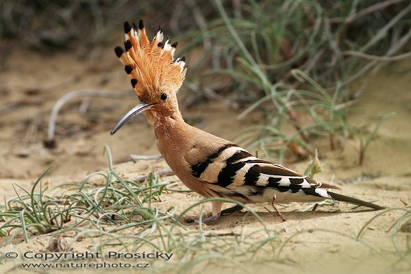
[[[186,75],[186,58],[173,60],[177,42],[171,44],[169,38],[163,42],[161,27],[150,42],[141,20],[138,26],[125,22],[124,32],[125,50],[115,47],[114,51],[124,64],[137,96],[142,99],[145,92],[163,88],[177,92]]]

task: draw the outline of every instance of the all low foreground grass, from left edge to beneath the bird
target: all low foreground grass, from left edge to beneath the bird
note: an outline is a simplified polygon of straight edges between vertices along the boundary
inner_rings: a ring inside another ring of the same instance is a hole
[[[107,173],[92,173],[82,183],[65,183],[49,189],[42,185],[42,179],[52,167],[49,166],[31,191],[17,186],[17,197],[6,201],[0,212],[3,220],[0,223],[1,236],[8,239],[5,245],[16,244],[21,238],[29,243],[30,238],[36,235],[55,236],[76,232],[73,245],[77,239],[86,237],[92,242],[92,249],[97,251],[112,247],[127,251],[149,248],[173,252],[181,260],[190,258],[194,253],[203,253],[195,260],[181,264],[182,272],[201,264],[203,260],[221,260],[228,253],[252,258],[260,251],[275,251],[278,243],[266,240],[266,237],[275,239],[278,233],[266,228],[264,221],[251,208],[230,199],[217,200],[241,204],[249,211],[243,219],[250,214],[261,223],[262,228],[251,234],[240,232],[225,235],[203,230],[200,219],[199,229],[188,230],[179,223],[184,215],[192,208],[216,198],[203,199],[179,213],[173,206],[162,211],[155,206],[161,202],[163,192],[175,191],[175,184],[164,182],[153,173],[145,184],[123,179],[113,170],[110,150],[108,147],[105,150],[108,152]],[[100,177],[105,183],[101,187],[90,184],[95,177]],[[265,242],[252,240],[258,232],[266,235]],[[209,249],[218,251],[210,254]]]

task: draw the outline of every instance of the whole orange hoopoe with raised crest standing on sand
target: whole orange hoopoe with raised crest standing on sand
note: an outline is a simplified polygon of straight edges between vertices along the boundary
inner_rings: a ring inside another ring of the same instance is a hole
[[[187,71],[184,56],[173,59],[177,42],[171,44],[169,38],[163,42],[161,27],[150,42],[141,20],[138,26],[125,22],[124,32],[125,50],[115,47],[114,51],[125,66],[140,104],[123,116],[111,135],[144,112],[154,127],[160,153],[190,190],[203,197],[230,198],[241,203],[268,202],[274,208],[274,203],[336,199],[383,209],[331,192],[329,188],[339,188],[256,158],[228,140],[188,125],[179,111],[176,96]],[[221,214],[241,210],[240,206],[234,206],[221,211],[221,206],[221,201],[212,201],[212,216],[204,221],[210,223]]]

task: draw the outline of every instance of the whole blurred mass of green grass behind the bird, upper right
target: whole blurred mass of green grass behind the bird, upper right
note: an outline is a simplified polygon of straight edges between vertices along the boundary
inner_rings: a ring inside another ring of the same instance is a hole
[[[249,0],[233,9],[225,1],[212,3],[219,16],[210,18],[201,32],[186,34],[191,40],[185,50],[200,42],[210,45],[191,66],[190,81],[208,87],[210,80],[226,75],[232,81],[221,80],[221,90],[215,80],[212,86],[225,98],[248,105],[238,118],[264,112],[262,125],[246,129],[238,142],[282,162],[290,154],[312,156],[310,147],[316,147],[319,137],[329,140],[330,150],[338,149],[341,138],[356,138],[358,163],[363,164],[369,143],[391,114],[371,132],[349,122],[360,94],[350,84],[379,63],[348,53],[392,56],[408,50],[406,11],[411,5]],[[364,28],[367,32],[358,34]],[[205,70],[207,65],[213,68]]]

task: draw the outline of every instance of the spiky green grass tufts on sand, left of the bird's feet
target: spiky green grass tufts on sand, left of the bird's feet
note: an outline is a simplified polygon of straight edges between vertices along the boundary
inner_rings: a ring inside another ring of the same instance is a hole
[[[168,182],[160,182],[151,173],[148,185],[122,179],[112,169],[108,151],[108,173],[92,173],[81,184],[65,183],[51,190],[41,184],[51,166],[34,183],[32,190],[14,185],[16,198],[8,200],[0,216],[8,219],[0,226],[4,235],[8,229],[8,244],[23,235],[28,242],[29,234],[49,234],[55,231],[77,229],[80,225],[101,229],[102,225],[116,225],[110,232],[119,232],[135,227],[138,234],[151,229],[153,223],[171,219],[174,208],[160,212],[151,207],[152,199],[159,199]],[[103,186],[95,188],[88,182],[95,177],[105,180]],[[23,192],[23,194],[21,194]],[[50,196],[47,192],[57,192]]]

